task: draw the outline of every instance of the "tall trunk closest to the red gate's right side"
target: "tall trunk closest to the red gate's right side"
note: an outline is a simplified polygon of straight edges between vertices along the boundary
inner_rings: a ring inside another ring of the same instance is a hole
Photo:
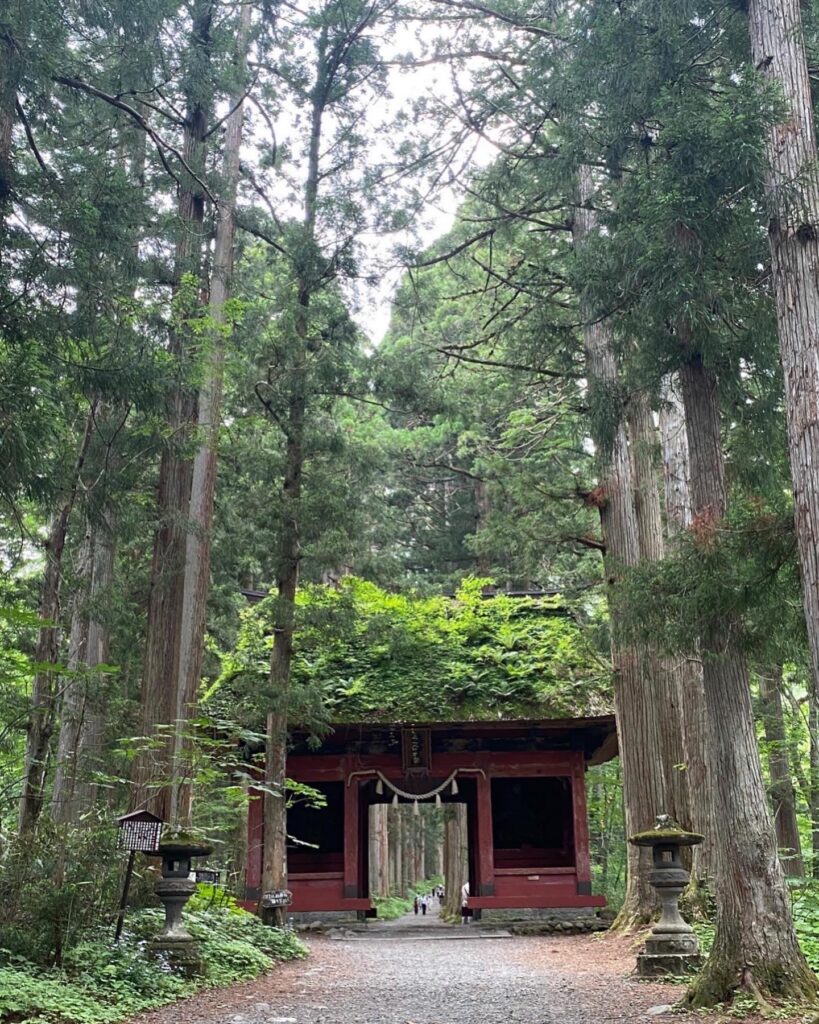
[[[573,243],[579,249],[598,231],[593,208],[594,181],[588,167],[580,169],[579,205],[574,216]],[[608,324],[587,307],[583,309],[586,372],[590,403],[610,408],[618,400],[618,373]],[[602,419],[602,417],[601,417]],[[610,417],[606,419],[610,420]],[[666,806],[662,770],[660,714],[650,684],[652,666],[641,646],[626,644],[617,628],[618,583],[623,569],[640,559],[637,515],[629,442],[622,417],[617,418],[611,436],[593,438],[598,450],[599,483],[592,500],[600,511],[605,544],[604,571],[611,618],[611,647],[614,664],[614,700],[617,713],[620,763],[629,835],[647,828]],[[648,851],[629,847],[629,877],[615,927],[632,928],[650,921],[656,896],[648,883],[651,857]]]

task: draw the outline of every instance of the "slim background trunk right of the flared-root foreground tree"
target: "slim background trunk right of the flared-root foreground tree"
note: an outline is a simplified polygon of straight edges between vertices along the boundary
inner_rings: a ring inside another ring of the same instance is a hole
[[[760,712],[768,743],[771,809],[779,858],[785,874],[799,879],[805,873],[805,865],[796,821],[796,794],[790,776],[781,683],[781,668],[760,673]]]

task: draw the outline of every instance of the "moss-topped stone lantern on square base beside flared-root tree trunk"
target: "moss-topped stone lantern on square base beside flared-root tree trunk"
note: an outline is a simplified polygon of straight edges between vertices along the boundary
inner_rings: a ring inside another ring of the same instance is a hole
[[[648,880],[662,904],[660,919],[638,954],[637,973],[641,978],[686,974],[698,968],[702,957],[693,929],[680,914],[679,899],[690,878],[681,854],[683,847],[701,843],[702,836],[685,831],[667,814],[660,814],[653,828],[631,836],[629,842],[650,847],[654,866]]]

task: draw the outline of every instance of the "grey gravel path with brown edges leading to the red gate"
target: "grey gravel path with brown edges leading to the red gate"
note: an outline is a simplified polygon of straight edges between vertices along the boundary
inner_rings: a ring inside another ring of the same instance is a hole
[[[683,987],[632,977],[634,940],[512,936],[410,914],[310,938],[310,956],[136,1024],[718,1024],[673,1014]],[[735,1020],[735,1018],[731,1018]],[[760,1018],[744,1018],[746,1024]],[[796,1019],[792,1019],[791,1024]]]

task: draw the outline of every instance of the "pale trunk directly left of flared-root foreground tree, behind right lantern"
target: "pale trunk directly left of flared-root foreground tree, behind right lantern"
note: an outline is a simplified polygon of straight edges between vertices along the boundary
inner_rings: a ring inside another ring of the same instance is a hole
[[[659,413],[659,431],[662,445],[665,528],[669,547],[674,549],[693,519],[685,409],[680,397],[680,383],[676,377],[665,382]],[[695,652],[679,656],[675,660],[675,671],[683,696],[683,760],[688,792],[691,795],[689,823],[694,831],[704,836],[704,842],[694,847],[692,854],[692,887],[698,890],[707,884],[712,873],[712,849],[717,830],[707,754],[708,719],[705,711],[702,660]]]

